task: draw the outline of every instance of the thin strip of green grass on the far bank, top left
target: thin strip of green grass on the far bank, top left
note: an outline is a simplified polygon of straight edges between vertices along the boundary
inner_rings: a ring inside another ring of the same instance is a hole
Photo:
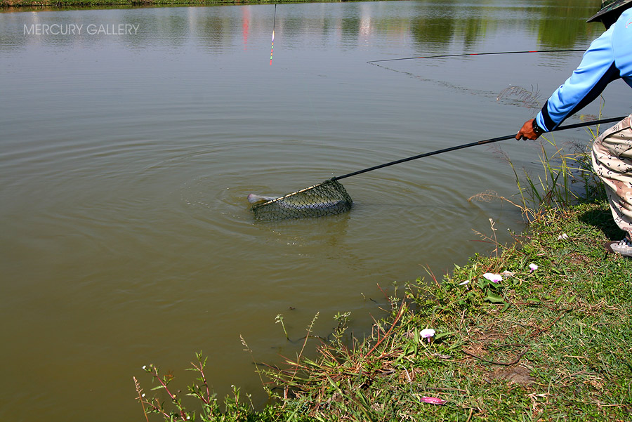
[[[0,0],[4,8],[77,8],[103,6],[199,6],[204,4],[313,3],[333,0]],[[345,0],[348,1],[348,0]]]

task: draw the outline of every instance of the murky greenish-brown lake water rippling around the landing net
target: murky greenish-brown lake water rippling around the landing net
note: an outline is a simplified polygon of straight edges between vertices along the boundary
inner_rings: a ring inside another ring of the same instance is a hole
[[[0,13],[0,420],[143,420],[132,376],[149,390],[154,363],[183,388],[199,350],[220,396],[240,385],[261,403],[240,335],[269,363],[296,350],[279,314],[297,339],[317,312],[327,335],[350,311],[362,336],[378,284],[489,253],[473,232],[489,218],[510,241],[516,209],[468,202],[516,192],[489,147],[345,179],[339,216],[261,223],[246,202],[516,133],[534,110],[497,95],[544,103],[581,53],[367,61],[585,48],[601,31],[585,23],[598,1],[481,3]],[[608,88],[605,117],[628,95]],[[501,146],[538,169],[533,143]]]

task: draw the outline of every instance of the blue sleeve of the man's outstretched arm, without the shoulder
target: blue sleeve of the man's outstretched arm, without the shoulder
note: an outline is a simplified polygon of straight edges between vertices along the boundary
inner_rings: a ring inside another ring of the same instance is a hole
[[[595,100],[607,84],[619,77],[619,70],[614,63],[610,27],[593,41],[579,67],[548,98],[536,117],[538,126],[547,132],[557,128],[567,117]]]

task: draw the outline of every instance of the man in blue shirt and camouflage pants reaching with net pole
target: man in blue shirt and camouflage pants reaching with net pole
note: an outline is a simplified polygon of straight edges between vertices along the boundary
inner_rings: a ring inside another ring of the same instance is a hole
[[[525,121],[515,136],[535,140],[591,103],[607,84],[622,78],[632,87],[632,0],[602,0],[601,10],[586,22],[606,27],[584,53],[571,77],[548,98],[535,119]],[[602,133],[593,143],[593,169],[603,180],[612,216],[626,237],[610,247],[632,256],[632,114]]]

